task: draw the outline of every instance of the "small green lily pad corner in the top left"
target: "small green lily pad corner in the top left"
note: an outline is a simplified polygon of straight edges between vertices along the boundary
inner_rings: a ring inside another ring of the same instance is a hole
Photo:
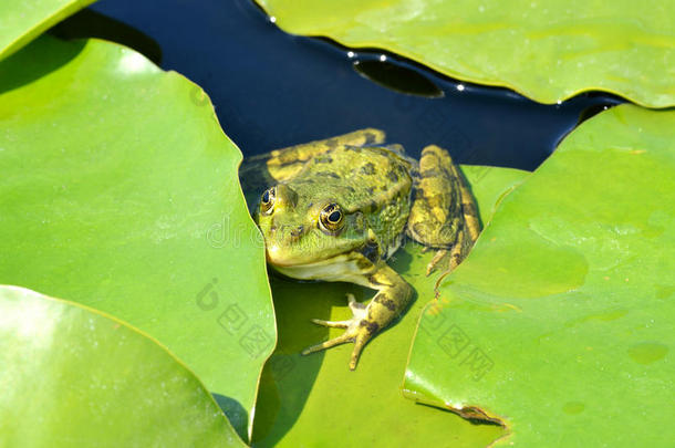
[[[28,44],[51,25],[95,0],[2,0],[0,60]]]

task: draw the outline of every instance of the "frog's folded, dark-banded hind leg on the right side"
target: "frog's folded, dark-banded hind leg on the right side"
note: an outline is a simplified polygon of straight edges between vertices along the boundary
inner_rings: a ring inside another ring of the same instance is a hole
[[[469,252],[480,233],[474,196],[447,150],[430,145],[423,149],[415,197],[408,218],[408,235],[437,249],[427,275],[449,256],[448,270]]]

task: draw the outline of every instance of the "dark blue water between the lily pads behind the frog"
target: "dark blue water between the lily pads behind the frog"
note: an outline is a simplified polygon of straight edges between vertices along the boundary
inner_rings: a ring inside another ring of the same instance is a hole
[[[249,0],[102,0],[69,22],[62,33],[125,43],[201,85],[245,155],[378,127],[413,155],[435,143],[459,163],[533,169],[581,116],[619,102],[590,94],[541,105],[382,51],[351,54],[285,34]]]

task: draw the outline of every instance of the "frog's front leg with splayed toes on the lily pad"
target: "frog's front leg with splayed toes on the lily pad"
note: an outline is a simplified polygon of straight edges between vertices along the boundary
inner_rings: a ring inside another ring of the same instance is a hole
[[[333,347],[346,342],[354,343],[350,368],[356,368],[359,356],[365,344],[380,330],[387,326],[406,309],[413,298],[413,288],[396,271],[390,268],[386,262],[380,261],[377,269],[370,275],[364,275],[363,282],[368,288],[378,290],[367,306],[356,302],[352,294],[347,294],[352,319],[346,321],[321,321],[312,320],[315,324],[345,329],[344,333],[321,344],[313,345],[302,351],[303,355]]]

